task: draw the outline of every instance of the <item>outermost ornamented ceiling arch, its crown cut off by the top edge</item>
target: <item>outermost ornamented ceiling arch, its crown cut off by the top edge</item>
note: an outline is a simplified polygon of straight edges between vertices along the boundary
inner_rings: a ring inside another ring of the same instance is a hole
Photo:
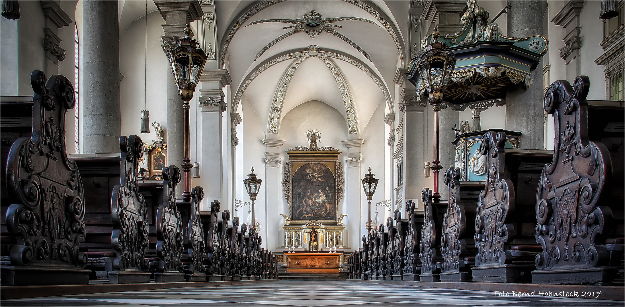
[[[384,26],[384,29],[386,29],[386,31],[392,37],[393,41],[395,42],[395,45],[397,46],[397,52],[399,53],[399,57],[401,58],[401,61],[404,61],[404,53],[402,52],[401,43],[399,42],[399,38],[397,37],[397,34],[392,29],[391,23],[388,22],[386,20],[386,18],[382,14],[377,12],[377,10],[374,7],[371,7],[371,6],[363,3],[362,1],[356,1],[356,0],[344,0],[344,1],[345,2],[349,2],[351,4],[354,4],[355,6],[361,7],[365,11],[369,12],[369,14],[371,14],[371,16],[375,17],[377,19],[377,21],[379,21],[382,24],[382,26]],[[223,38],[223,43],[222,43],[222,48],[221,48],[221,56],[220,56],[221,62],[223,62],[224,59],[226,58],[226,52],[227,52],[228,46],[230,46],[230,42],[232,41],[232,37],[234,37],[234,34],[236,34],[236,31],[238,31],[239,28],[241,28],[241,26],[247,20],[249,20],[250,17],[254,16],[254,14],[256,14],[257,12],[262,11],[262,9],[265,9],[266,7],[269,7],[269,6],[271,6],[273,4],[276,4],[278,2],[282,2],[282,1],[262,1],[259,4],[257,4],[256,6],[253,6],[251,9],[248,9],[235,22],[232,22],[232,24],[228,27],[228,29],[229,29],[228,33]],[[336,19],[336,20],[338,20],[338,19]]]

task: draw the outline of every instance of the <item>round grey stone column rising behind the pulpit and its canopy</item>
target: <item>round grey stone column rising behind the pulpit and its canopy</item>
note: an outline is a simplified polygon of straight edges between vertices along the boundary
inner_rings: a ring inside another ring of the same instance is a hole
[[[512,6],[507,14],[508,36],[527,37],[542,34],[542,1],[508,1]],[[506,129],[521,131],[521,148],[542,149],[542,61],[532,71],[532,85],[519,86],[506,97]]]

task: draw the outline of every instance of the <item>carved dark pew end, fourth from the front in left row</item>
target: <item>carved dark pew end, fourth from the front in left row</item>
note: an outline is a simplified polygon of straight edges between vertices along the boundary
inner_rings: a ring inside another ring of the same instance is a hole
[[[206,259],[206,247],[204,245],[204,227],[199,213],[199,203],[204,199],[204,189],[199,185],[191,189],[191,218],[187,225],[188,244],[187,261],[189,265],[184,268],[186,281],[205,281],[204,260]]]

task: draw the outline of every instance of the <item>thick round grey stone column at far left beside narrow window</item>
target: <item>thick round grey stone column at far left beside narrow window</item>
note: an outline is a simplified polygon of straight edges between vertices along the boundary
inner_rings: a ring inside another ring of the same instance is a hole
[[[118,1],[83,4],[84,153],[119,152]]]

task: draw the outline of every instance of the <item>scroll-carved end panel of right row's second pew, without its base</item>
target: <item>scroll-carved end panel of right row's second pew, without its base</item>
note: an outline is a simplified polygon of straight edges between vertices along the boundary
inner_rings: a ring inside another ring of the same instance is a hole
[[[505,246],[514,236],[514,227],[507,224],[508,212],[514,210],[515,195],[511,180],[503,178],[504,132],[487,132],[482,137],[480,153],[486,155],[486,185],[479,196],[475,220],[475,265],[506,263]],[[509,259],[510,260],[510,259]]]

